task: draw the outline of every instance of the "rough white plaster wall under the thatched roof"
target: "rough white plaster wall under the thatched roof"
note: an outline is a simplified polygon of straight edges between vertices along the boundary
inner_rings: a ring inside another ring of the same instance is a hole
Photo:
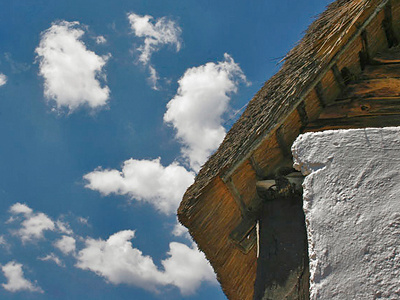
[[[400,127],[300,135],[311,299],[400,299]]]

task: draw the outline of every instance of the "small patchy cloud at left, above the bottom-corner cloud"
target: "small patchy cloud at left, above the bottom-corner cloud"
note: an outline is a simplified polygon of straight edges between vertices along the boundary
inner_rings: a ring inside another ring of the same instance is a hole
[[[44,213],[33,213],[32,209],[25,204],[16,203],[10,208],[14,215],[23,214],[25,220],[21,223],[21,228],[14,233],[18,235],[22,242],[34,241],[44,237],[44,231],[54,231],[54,222]]]

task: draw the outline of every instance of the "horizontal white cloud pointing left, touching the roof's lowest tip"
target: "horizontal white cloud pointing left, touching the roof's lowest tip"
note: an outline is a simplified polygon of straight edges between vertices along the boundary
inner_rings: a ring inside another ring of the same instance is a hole
[[[194,174],[178,163],[164,167],[160,158],[129,159],[122,171],[97,169],[83,176],[87,188],[103,195],[129,195],[135,200],[152,204],[165,213],[174,213],[186,188],[193,183]]]

